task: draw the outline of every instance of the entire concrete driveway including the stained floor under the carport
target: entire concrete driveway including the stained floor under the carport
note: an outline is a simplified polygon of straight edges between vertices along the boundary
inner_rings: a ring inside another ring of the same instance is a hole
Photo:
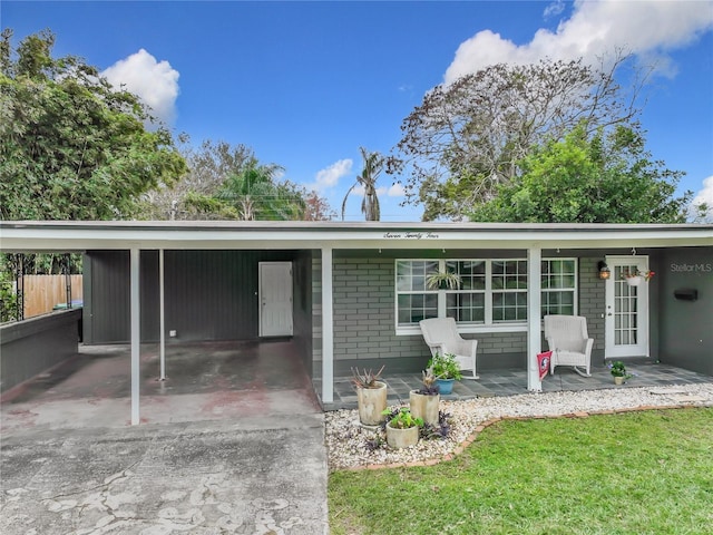
[[[325,534],[324,417],[289,342],[90,347],[2,399],[0,533]]]

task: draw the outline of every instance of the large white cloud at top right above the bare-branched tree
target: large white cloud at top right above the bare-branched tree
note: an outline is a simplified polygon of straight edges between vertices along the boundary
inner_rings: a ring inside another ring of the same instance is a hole
[[[554,6],[557,6],[556,3]],[[546,14],[550,14],[550,4]],[[595,62],[617,48],[637,56],[655,57],[666,66],[667,51],[684,47],[713,28],[713,4],[709,1],[586,1],[578,0],[574,12],[557,30],[538,30],[525,45],[515,45],[490,30],[463,41],[445,81],[475,72],[489,65],[530,64],[544,58]]]

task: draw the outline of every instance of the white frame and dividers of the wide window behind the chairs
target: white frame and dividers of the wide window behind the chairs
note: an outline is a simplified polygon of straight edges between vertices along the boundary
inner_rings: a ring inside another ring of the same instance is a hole
[[[399,262],[437,262],[438,263],[438,269],[439,271],[443,271],[446,269],[446,263],[447,262],[485,262],[486,263],[486,288],[485,288],[485,322],[484,323],[471,323],[471,322],[459,322],[458,323],[458,330],[460,332],[463,333],[481,333],[481,332],[527,332],[527,320],[524,321],[504,321],[504,322],[494,322],[492,321],[492,295],[494,295],[494,290],[492,290],[492,262],[507,262],[507,261],[525,261],[527,262],[527,259],[522,259],[522,257],[511,257],[511,259],[395,259],[394,260],[394,264],[393,264],[393,269],[394,269],[394,278],[393,278],[393,292],[394,292],[394,300],[393,300],[393,307],[394,307],[394,324],[395,324],[395,333],[401,335],[412,335],[412,334],[420,334],[421,330],[418,325],[418,323],[416,324],[409,324],[409,325],[400,325],[399,324],[399,295],[400,294],[409,294],[409,293],[422,293],[422,292],[416,292],[416,291],[402,291],[400,292],[398,289],[398,270],[397,270],[397,265]],[[574,262],[574,289],[572,290],[573,292],[573,300],[574,300],[574,313],[577,314],[578,313],[578,292],[579,292],[579,275],[578,275],[578,271],[579,271],[579,262],[577,257],[547,257],[547,259],[543,259],[543,262],[550,262],[550,261],[573,261]],[[541,293],[545,292],[553,292],[553,291],[557,291],[557,292],[563,292],[563,291],[568,291],[566,289],[558,289],[558,290],[546,290],[546,291],[541,291]],[[447,294],[449,293],[456,293],[452,290],[427,290],[426,292],[428,293],[436,293],[438,295],[438,318],[446,318],[446,311],[447,311]],[[529,289],[526,290],[528,296],[529,296]],[[468,292],[466,292],[468,293]],[[499,290],[496,290],[495,293],[499,293]],[[540,312],[541,312],[541,307],[540,307]]]

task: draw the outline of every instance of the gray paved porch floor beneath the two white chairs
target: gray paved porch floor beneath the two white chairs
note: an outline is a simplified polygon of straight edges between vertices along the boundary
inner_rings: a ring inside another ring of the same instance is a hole
[[[572,368],[555,369],[554,376],[546,376],[543,380],[544,392],[580,391],[622,389],[637,387],[663,387],[692,383],[713,382],[713,377],[694,371],[675,368],[673,366],[654,363],[647,360],[627,360],[627,371],[634,377],[622,386],[614,385],[612,373],[604,363],[592,367],[592,377],[582,377]],[[494,396],[515,396],[527,393],[527,371],[522,369],[479,370],[479,379],[463,379],[457,381],[453,393],[441,396],[446,400],[472,399]],[[387,382],[388,402],[390,405],[408,403],[409,392],[421,387],[420,373],[388,373],[382,374]],[[321,381],[315,380],[315,389],[321,390]],[[351,385],[350,377],[334,378],[334,402],[323,403],[325,410],[355,409],[356,392]]]

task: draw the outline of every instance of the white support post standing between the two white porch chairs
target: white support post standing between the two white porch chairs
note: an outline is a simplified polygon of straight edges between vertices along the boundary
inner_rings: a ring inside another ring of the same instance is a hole
[[[541,260],[540,249],[527,250],[527,389],[543,391],[537,353],[541,351]]]

